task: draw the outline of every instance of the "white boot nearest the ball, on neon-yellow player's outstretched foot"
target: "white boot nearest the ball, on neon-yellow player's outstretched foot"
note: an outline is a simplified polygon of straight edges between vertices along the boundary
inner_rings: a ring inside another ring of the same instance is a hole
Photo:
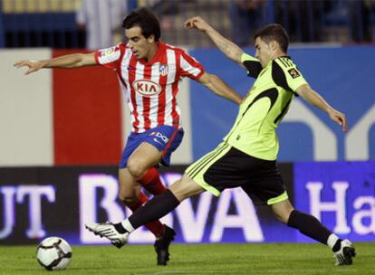
[[[117,248],[121,248],[128,242],[130,232],[118,232],[113,223],[86,223],[85,227],[95,235],[107,238]]]

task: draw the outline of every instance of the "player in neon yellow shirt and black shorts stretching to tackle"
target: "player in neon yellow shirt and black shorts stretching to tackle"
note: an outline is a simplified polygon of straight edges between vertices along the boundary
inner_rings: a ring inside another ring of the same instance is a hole
[[[87,226],[123,245],[130,232],[171,212],[192,195],[208,191],[218,196],[226,188],[241,187],[249,197],[270,205],[279,221],[331,247],[336,265],[350,265],[355,256],[351,242],[341,240],[312,215],[293,208],[276,166],[279,145],[275,128],[294,96],[301,96],[325,111],[344,131],[345,116],[312,90],[287,56],[289,37],[281,25],[269,24],[255,33],[255,57],[243,52],[200,17],[187,20],[186,27],[206,33],[228,58],[256,79],[254,86],[241,103],[233,128],[223,142],[188,166],[180,180],[121,223]]]

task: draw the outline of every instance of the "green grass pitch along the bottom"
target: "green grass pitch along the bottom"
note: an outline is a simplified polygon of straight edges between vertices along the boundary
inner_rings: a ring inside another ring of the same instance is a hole
[[[73,246],[72,262],[58,274],[375,274],[375,242],[355,243],[351,266],[335,267],[322,244],[172,244],[168,266],[156,266],[152,245]],[[35,246],[0,246],[0,274],[48,274]]]

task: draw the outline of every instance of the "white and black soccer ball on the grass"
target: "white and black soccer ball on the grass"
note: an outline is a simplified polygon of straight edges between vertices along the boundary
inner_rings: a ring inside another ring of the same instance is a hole
[[[72,248],[62,238],[49,237],[38,245],[36,259],[46,270],[64,270],[72,261]]]

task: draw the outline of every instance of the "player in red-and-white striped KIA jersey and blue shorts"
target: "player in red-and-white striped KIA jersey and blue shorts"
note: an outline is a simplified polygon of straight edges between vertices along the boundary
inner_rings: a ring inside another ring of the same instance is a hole
[[[42,68],[79,68],[101,65],[117,72],[131,113],[132,130],[120,159],[120,201],[132,211],[148,201],[141,191],[161,194],[159,163],[168,166],[171,153],[184,135],[176,96],[180,79],[188,77],[227,100],[240,104],[242,97],[187,52],[159,41],[159,20],[147,8],[128,14],[122,24],[128,43],[91,53],[75,53],[45,61],[24,60],[26,74]],[[158,264],[166,265],[175,232],[158,220],[146,227],[155,234]],[[112,242],[118,245],[117,242]]]

